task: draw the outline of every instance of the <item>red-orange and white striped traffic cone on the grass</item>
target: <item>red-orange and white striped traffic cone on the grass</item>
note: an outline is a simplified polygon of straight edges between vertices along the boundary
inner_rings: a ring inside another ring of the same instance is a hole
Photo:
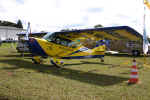
[[[138,69],[136,67],[136,60],[133,60],[133,65],[132,65],[132,69],[131,69],[131,76],[130,79],[128,80],[128,84],[135,84],[138,83],[139,79],[138,79]]]

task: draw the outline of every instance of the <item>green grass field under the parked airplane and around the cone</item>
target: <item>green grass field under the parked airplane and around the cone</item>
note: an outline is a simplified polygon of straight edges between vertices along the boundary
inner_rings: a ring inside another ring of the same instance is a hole
[[[15,45],[0,47],[0,100],[149,100],[150,58],[138,57],[139,84],[128,85],[132,57],[65,60],[56,68],[46,59],[33,64],[21,57]]]

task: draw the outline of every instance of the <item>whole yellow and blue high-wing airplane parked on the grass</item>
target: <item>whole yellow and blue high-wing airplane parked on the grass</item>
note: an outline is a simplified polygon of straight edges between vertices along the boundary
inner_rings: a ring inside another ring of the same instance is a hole
[[[100,58],[104,61],[107,40],[141,41],[141,35],[128,26],[102,27],[48,33],[43,38],[27,35],[34,63],[51,57],[55,66],[63,65],[62,59]]]

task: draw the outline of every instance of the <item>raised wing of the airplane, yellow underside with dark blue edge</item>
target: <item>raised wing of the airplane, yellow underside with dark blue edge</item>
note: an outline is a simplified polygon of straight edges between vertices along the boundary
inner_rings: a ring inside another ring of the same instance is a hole
[[[73,31],[56,32],[55,34],[59,37],[70,39],[76,44],[81,43],[82,45],[95,45],[96,41],[103,39],[142,42],[142,35],[128,26],[80,29]]]

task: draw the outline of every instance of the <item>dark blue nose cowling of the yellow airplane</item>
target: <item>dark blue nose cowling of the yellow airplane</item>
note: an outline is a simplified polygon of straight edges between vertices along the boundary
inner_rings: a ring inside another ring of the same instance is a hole
[[[28,44],[32,55],[43,56],[43,57],[47,56],[47,54],[44,52],[41,45],[39,44],[39,41],[36,38],[30,37]]]

